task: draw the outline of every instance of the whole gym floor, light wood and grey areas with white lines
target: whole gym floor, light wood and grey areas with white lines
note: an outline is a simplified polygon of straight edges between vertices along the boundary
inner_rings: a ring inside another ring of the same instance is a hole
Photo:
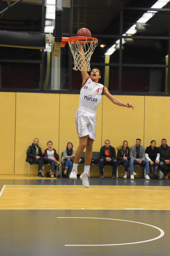
[[[0,255],[169,255],[170,179],[0,175]]]

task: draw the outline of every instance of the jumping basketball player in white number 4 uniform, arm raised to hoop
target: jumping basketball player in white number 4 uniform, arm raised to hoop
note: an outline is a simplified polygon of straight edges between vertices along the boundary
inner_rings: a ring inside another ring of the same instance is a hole
[[[81,46],[79,46],[79,48],[80,47]],[[81,61],[82,63],[85,62],[83,53],[81,56]],[[69,178],[77,179],[78,162],[80,160],[83,150],[86,148],[84,172],[81,174],[80,179],[82,180],[83,186],[88,188],[88,177],[92,160],[92,146],[96,135],[96,110],[97,106],[101,101],[101,95],[106,95],[109,100],[119,106],[134,109],[134,105],[129,102],[123,103],[120,100],[116,99],[113,95],[109,93],[108,89],[104,85],[98,83],[99,79],[101,78],[101,72],[98,68],[93,68],[90,76],[87,73],[87,70],[82,70],[81,75],[83,82],[80,89],[79,107],[75,116],[76,127],[79,136],[79,146],[75,152],[73,169],[70,173]]]

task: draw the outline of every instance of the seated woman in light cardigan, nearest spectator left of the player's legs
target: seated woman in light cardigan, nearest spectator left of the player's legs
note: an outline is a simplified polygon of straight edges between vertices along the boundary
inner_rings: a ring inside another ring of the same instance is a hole
[[[75,149],[73,149],[73,144],[71,142],[68,142],[66,148],[63,149],[62,163],[65,164],[65,170],[63,173],[64,176],[70,176],[71,165],[74,162],[74,156],[75,156]]]

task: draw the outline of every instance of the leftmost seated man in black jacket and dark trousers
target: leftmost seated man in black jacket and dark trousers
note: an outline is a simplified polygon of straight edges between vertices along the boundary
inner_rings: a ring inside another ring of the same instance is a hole
[[[43,172],[44,158],[42,156],[41,147],[39,147],[39,139],[35,138],[32,145],[28,147],[26,152],[26,162],[38,164],[38,178],[44,178]]]

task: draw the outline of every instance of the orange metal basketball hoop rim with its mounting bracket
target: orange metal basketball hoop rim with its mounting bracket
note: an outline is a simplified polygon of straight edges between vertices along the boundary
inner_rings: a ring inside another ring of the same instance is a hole
[[[64,47],[65,44],[68,42],[73,44],[76,44],[76,43],[84,44],[84,43],[98,42],[98,39],[95,37],[62,37],[61,47]]]

